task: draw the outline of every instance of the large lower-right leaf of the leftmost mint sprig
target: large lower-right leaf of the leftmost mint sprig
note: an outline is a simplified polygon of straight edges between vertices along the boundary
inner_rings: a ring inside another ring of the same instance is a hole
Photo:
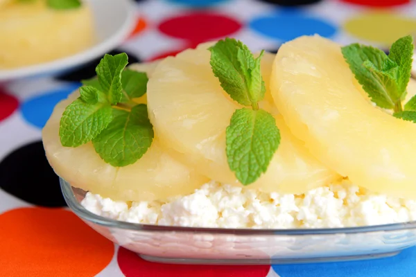
[[[113,109],[112,122],[93,139],[96,152],[112,166],[128,166],[140,159],[153,141],[153,127],[147,107],[137,105],[132,110]]]

